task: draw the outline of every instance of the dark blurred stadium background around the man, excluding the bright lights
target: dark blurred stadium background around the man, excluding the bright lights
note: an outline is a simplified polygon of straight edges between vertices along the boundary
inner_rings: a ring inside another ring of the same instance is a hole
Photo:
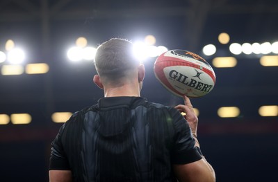
[[[7,39],[28,51],[26,62],[46,62],[41,75],[0,75],[0,113],[30,113],[28,125],[0,125],[0,181],[48,181],[51,140],[60,123],[56,111],[79,111],[95,104],[103,93],[92,83],[92,62],[72,63],[66,49],[77,37],[92,46],[111,37],[136,39],[154,35],[156,44],[203,55],[215,44],[216,56],[232,56],[218,35],[230,42],[278,41],[278,1],[271,0],[1,0],[0,49]],[[201,149],[220,182],[277,181],[278,119],[259,116],[261,105],[278,104],[277,66],[265,67],[254,55],[236,55],[234,68],[214,68],[215,88],[194,98],[200,111],[198,137]],[[155,58],[145,62],[142,97],[176,105],[154,77]],[[0,66],[5,62],[0,63]],[[240,108],[237,118],[220,118],[217,109]]]

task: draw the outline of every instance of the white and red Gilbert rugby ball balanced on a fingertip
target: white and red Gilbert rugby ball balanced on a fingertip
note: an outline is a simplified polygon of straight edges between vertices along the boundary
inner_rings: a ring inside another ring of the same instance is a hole
[[[174,95],[202,97],[215,85],[215,73],[201,56],[184,50],[167,51],[154,62],[154,74]]]

